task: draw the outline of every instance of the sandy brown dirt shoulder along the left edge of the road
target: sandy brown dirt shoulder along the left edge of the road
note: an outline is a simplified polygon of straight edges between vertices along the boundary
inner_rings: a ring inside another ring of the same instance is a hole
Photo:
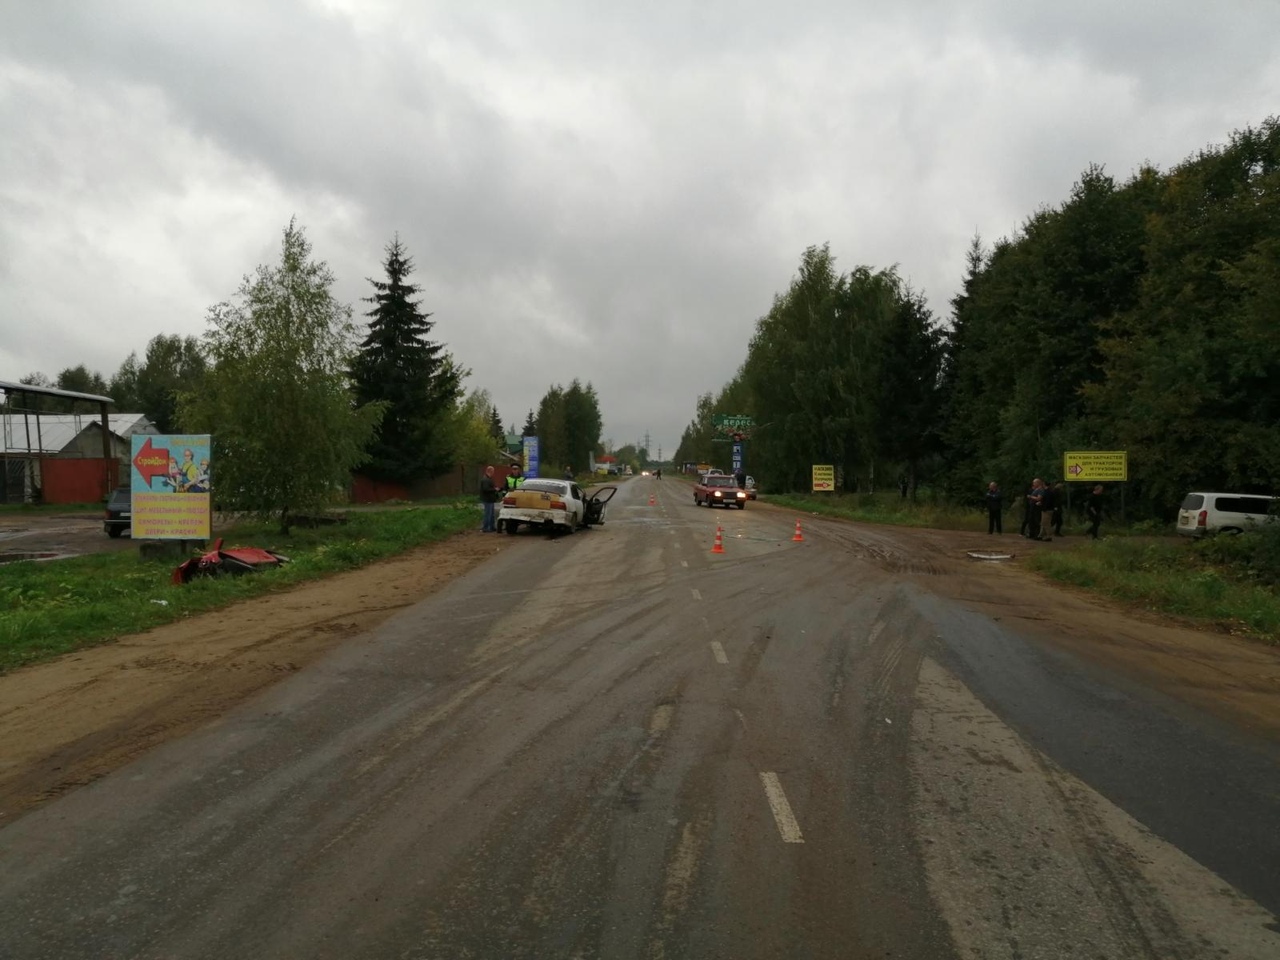
[[[460,534],[0,676],[0,824],[221,716],[495,549]]]

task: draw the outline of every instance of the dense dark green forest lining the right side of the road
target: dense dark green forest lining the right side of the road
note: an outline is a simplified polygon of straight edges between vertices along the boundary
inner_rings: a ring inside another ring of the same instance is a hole
[[[1167,173],[1091,166],[1012,237],[973,241],[945,320],[896,269],[804,252],[746,360],[698,398],[677,461],[727,461],[717,413],[758,426],[751,472],[804,490],[977,499],[1064,479],[1069,449],[1129,453],[1129,504],[1167,517],[1189,489],[1280,479],[1280,119]]]

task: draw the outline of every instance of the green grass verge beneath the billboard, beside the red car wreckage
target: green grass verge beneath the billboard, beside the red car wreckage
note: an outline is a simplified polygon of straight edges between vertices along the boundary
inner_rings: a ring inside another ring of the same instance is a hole
[[[175,561],[143,561],[134,552],[5,564],[0,567],[0,673],[352,570],[419,544],[443,540],[479,521],[470,506],[348,516],[347,524],[297,529],[289,536],[282,536],[274,525],[230,527],[221,534],[227,545],[264,547],[285,554],[291,562],[262,573],[197,580],[184,586],[169,582]]]

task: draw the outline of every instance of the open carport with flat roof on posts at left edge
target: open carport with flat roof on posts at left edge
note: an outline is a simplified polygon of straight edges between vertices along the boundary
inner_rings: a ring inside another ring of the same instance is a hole
[[[4,403],[0,404],[0,503],[35,503],[41,499],[44,463],[49,451],[41,436],[41,413],[36,398],[56,397],[70,401],[72,412],[77,404],[95,404],[97,424],[102,434],[100,497],[105,498],[115,485],[116,462],[111,456],[111,429],[108,407],[110,397],[92,393],[59,390],[55,387],[37,387],[0,380]],[[92,420],[92,415],[90,415]]]

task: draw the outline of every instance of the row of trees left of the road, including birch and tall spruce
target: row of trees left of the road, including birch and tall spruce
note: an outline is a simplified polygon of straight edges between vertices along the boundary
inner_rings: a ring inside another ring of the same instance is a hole
[[[369,280],[361,329],[333,293],[333,271],[291,221],[279,261],[210,307],[204,337],[157,335],[110,379],[79,365],[23,383],[110,396],[118,411],[145,413],[160,433],[212,434],[220,504],[276,516],[284,530],[293,515],[339,498],[356,468],[408,484],[500,460],[515,429],[503,428],[486,390],[465,392],[470,371],[430,339],[434,323],[398,237],[383,270]],[[27,407],[64,412],[70,403],[32,397]],[[573,380],[548,390],[526,433],[545,433],[544,462],[550,454],[557,471],[585,470],[600,424],[594,388]]]

